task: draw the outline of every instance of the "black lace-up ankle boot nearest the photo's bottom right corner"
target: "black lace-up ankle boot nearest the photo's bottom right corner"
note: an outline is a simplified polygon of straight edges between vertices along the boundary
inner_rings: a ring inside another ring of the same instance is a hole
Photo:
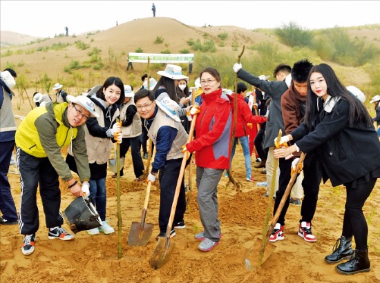
[[[343,264],[335,266],[336,271],[344,275],[351,275],[359,272],[370,271],[370,259],[368,258],[368,249],[365,251],[355,250],[350,260]]]

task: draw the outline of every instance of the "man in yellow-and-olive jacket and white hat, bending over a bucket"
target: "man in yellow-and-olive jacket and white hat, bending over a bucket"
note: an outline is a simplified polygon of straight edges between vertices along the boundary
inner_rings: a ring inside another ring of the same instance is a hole
[[[35,250],[36,232],[39,229],[37,186],[48,228],[48,238],[73,240],[61,227],[64,218],[59,213],[61,191],[59,177],[66,182],[75,196],[90,194],[88,179],[90,168],[84,139],[83,125],[88,117],[99,117],[88,97],[67,96],[61,104],[52,102],[37,107],[26,115],[16,131],[17,163],[21,175],[21,202],[19,210],[20,233],[24,235],[21,251],[30,255]],[[61,154],[61,148],[70,146],[82,186],[75,180]]]

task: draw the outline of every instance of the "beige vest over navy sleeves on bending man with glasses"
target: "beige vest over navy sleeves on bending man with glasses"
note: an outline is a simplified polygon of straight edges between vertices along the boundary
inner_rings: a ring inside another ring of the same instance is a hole
[[[148,131],[148,137],[151,138],[153,144],[155,144],[158,130],[160,130],[162,126],[171,126],[172,128],[176,128],[178,130],[173,144],[171,145],[171,149],[167,154],[167,160],[183,158],[182,146],[187,143],[187,137],[189,137],[189,135],[187,135],[181,122],[175,121],[173,118],[169,117],[167,113],[164,113],[164,111],[158,108],[158,112],[155,115],[151,128],[149,128]]]

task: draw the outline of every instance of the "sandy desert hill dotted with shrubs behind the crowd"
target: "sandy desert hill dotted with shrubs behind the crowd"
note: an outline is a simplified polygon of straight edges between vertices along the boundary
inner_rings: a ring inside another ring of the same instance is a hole
[[[361,28],[359,33],[354,30],[353,36],[365,38],[365,28]],[[11,32],[1,31],[1,41],[7,39]],[[227,38],[222,40],[218,35],[225,33]],[[379,29],[372,29],[368,32],[369,41],[377,42]],[[155,40],[160,37],[162,43],[155,43]],[[12,37],[15,41],[18,39],[26,39],[28,36]],[[215,41],[216,53],[202,53],[207,56],[213,54],[226,54],[226,56],[237,58],[243,45],[245,48],[245,59],[254,54],[251,46],[257,46],[259,43],[270,42],[278,45],[281,50],[291,51],[288,46],[284,46],[278,42],[278,39],[271,32],[256,32],[239,28],[236,26],[188,26],[180,21],[167,17],[149,17],[144,19],[135,19],[126,23],[121,23],[118,26],[102,30],[99,32],[88,32],[81,35],[69,37],[54,37],[44,40],[30,38],[35,43],[11,46],[9,48],[1,48],[1,70],[7,67],[13,67],[20,75],[25,76],[23,88],[30,92],[41,91],[50,92],[53,95],[54,91],[51,86],[56,81],[64,84],[64,88],[69,93],[79,93],[95,84],[102,84],[106,77],[115,75],[121,77],[126,84],[131,84],[134,87],[140,86],[140,77],[146,72],[146,64],[134,64],[133,72],[126,72],[126,57],[129,52],[135,52],[140,48],[142,52],[161,53],[164,50],[169,50],[171,53],[179,53],[181,50],[187,49],[189,52],[194,52],[189,46],[188,41],[200,40],[201,43],[213,39]],[[30,41],[29,41],[30,42]],[[77,43],[88,45],[89,48],[84,50],[77,47]],[[53,46],[64,45],[64,48],[55,49]],[[99,57],[102,58],[104,67],[99,70],[94,68],[79,68],[71,72],[65,72],[73,61],[83,64],[90,60],[88,52],[93,49],[101,50]],[[7,54],[8,53],[8,54]],[[195,52],[196,53],[196,52]],[[198,57],[199,58],[199,57]],[[234,59],[233,59],[234,60]],[[196,59],[193,66],[193,74],[190,75],[190,81],[198,77]],[[227,64],[233,64],[233,61]],[[152,74],[156,70],[164,68],[161,64],[151,66]],[[184,72],[187,72],[187,66],[182,66]],[[231,69],[229,69],[231,70]],[[248,69],[249,70],[249,69]],[[272,69],[268,70],[272,73]],[[370,81],[369,75],[361,70],[361,68],[348,68],[345,79],[348,84],[357,84],[359,78],[361,84]],[[232,73],[231,73],[232,74]],[[231,74],[226,74],[231,76]],[[223,75],[223,74],[222,74]],[[51,80],[51,85],[46,86],[44,78]],[[48,89],[48,90],[46,90]]]

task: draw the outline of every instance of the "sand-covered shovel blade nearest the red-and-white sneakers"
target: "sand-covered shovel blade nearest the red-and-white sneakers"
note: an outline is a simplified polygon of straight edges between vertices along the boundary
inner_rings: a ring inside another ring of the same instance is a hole
[[[272,255],[276,246],[270,242],[267,242],[263,258],[260,260],[260,252],[262,248],[263,241],[256,239],[251,248],[249,248],[249,250],[245,253],[245,268],[248,271],[254,271],[254,269],[261,266],[261,264],[263,264],[268,259],[269,255]]]

